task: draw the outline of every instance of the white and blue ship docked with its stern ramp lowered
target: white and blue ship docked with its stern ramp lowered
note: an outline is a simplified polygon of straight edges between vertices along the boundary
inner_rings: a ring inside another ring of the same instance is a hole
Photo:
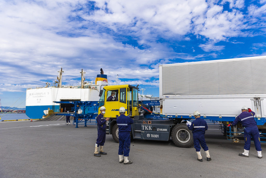
[[[42,118],[44,110],[49,113],[72,111],[72,104],[58,104],[53,101],[99,101],[99,91],[108,85],[107,75],[101,73],[95,78],[95,83],[85,82],[84,71],[81,70],[81,85],[62,85],[61,68],[55,85],[48,82],[44,87],[28,88],[26,91],[26,115],[32,119]]]

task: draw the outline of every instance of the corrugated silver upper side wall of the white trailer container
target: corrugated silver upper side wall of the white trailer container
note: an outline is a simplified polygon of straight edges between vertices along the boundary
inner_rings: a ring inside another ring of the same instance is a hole
[[[160,96],[266,93],[266,56],[159,67]]]

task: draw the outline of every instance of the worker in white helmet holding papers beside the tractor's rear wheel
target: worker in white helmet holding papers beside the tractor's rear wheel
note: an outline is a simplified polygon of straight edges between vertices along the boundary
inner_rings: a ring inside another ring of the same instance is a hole
[[[198,161],[202,162],[202,156],[200,153],[200,145],[206,153],[207,161],[211,160],[209,148],[206,145],[205,141],[205,130],[208,130],[208,125],[205,120],[200,118],[200,112],[194,111],[193,113],[195,120],[188,126],[189,130],[192,130],[193,140],[194,140],[194,148],[196,149],[196,153],[198,155]]]

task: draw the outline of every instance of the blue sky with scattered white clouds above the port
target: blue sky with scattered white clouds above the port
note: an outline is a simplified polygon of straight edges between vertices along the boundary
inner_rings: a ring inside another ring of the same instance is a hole
[[[266,0],[0,1],[0,99],[27,88],[94,81],[159,96],[159,64],[266,55]],[[23,94],[24,93],[24,94]]]

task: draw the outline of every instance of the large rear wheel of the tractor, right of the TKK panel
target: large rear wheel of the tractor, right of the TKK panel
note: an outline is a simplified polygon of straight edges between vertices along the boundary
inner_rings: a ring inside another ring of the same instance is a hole
[[[190,148],[193,145],[193,136],[191,130],[186,124],[177,124],[171,133],[172,140],[176,146],[181,148]]]

